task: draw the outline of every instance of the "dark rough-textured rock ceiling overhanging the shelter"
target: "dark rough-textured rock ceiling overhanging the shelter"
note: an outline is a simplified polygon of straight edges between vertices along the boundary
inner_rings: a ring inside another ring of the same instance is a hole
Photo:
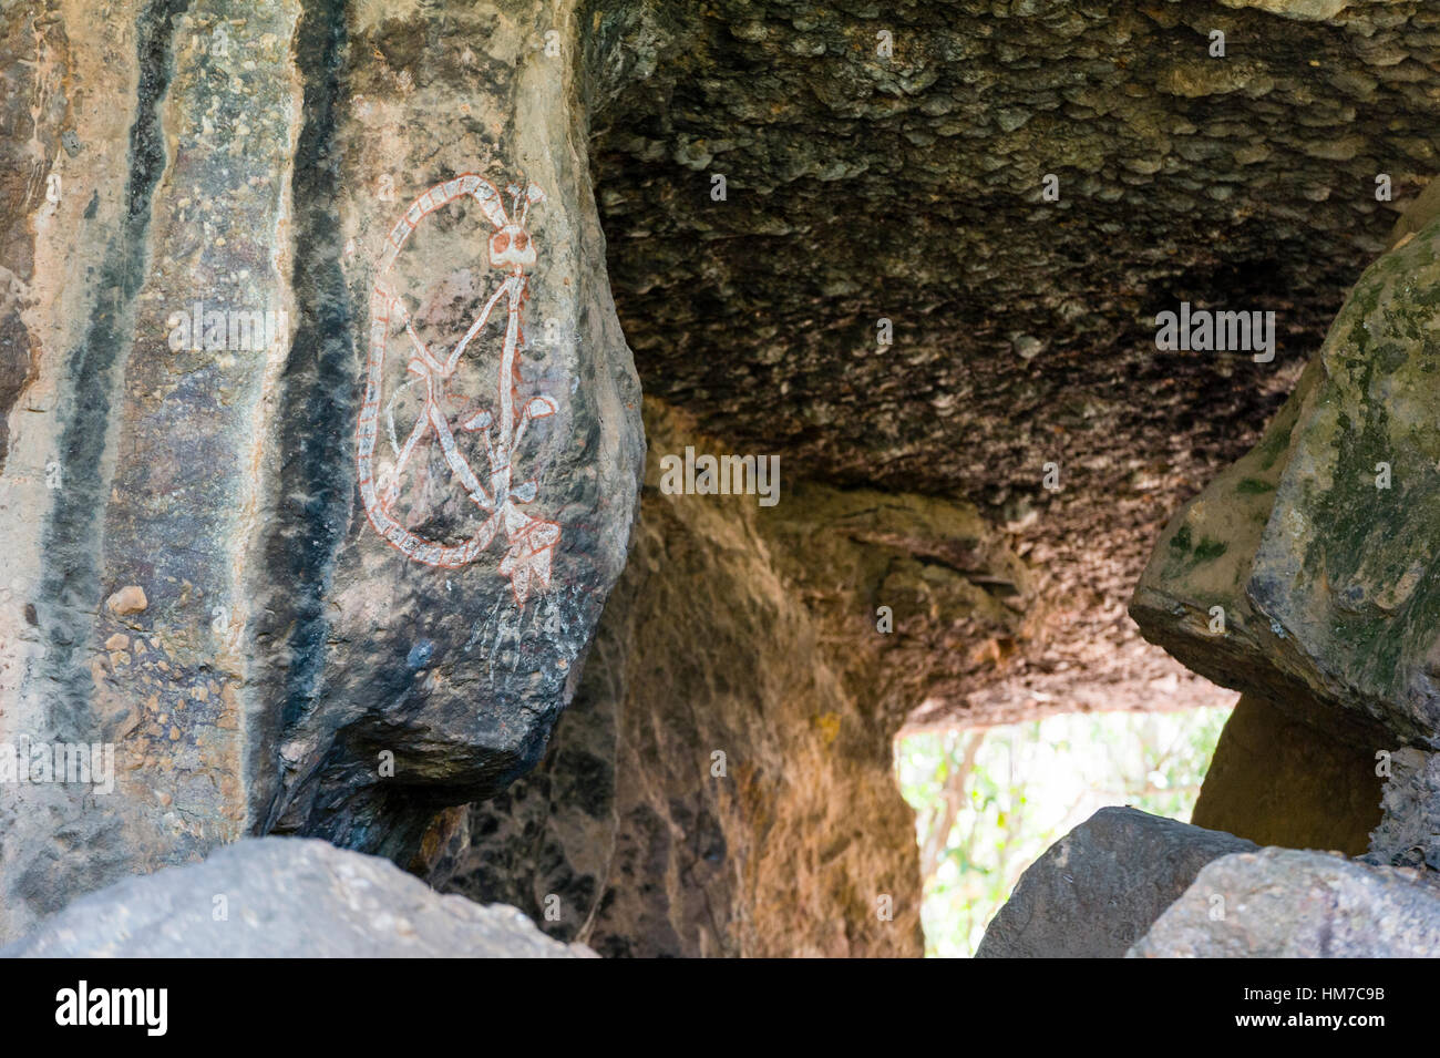
[[[1440,9],[590,17],[596,187],[647,392],[782,453],[791,479],[971,498],[1037,570],[1032,639],[919,718],[1228,701],[1143,646],[1123,605],[1159,525],[1254,440],[1433,174]],[[1274,311],[1274,363],[1156,353],[1153,317],[1179,301]]]

